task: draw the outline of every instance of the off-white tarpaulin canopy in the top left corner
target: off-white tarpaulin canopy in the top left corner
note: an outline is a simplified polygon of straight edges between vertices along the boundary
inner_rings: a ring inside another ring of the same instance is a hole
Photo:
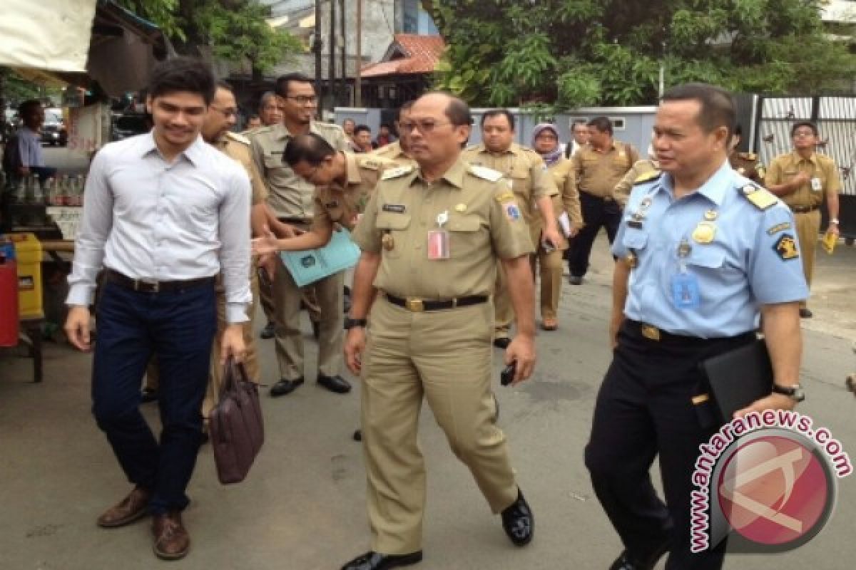
[[[97,0],[2,0],[0,65],[86,71]]]

